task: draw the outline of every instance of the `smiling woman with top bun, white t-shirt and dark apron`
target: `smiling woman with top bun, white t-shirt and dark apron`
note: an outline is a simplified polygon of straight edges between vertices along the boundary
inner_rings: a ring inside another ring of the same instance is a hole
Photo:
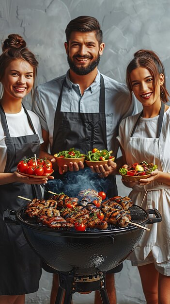
[[[41,277],[41,260],[21,226],[3,220],[4,210],[25,205],[18,195],[41,199],[39,184],[47,182],[16,172],[24,157],[38,156],[43,142],[39,118],[22,105],[33,87],[37,65],[23,38],[10,34],[0,55],[0,304],[24,304],[25,294],[37,291]]]

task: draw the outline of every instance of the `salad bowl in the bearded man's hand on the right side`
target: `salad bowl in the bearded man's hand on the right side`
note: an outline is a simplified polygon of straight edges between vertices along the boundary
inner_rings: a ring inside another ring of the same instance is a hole
[[[112,151],[104,150],[98,150],[97,148],[94,148],[92,151],[89,151],[86,154],[86,164],[88,167],[90,166],[99,166],[99,165],[106,165],[108,163],[108,160],[112,160],[114,162],[115,157],[111,156],[110,153]]]

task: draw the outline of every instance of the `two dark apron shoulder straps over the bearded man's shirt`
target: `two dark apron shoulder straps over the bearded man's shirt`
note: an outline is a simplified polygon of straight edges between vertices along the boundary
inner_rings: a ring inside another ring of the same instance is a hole
[[[61,105],[62,105],[62,90],[63,86],[66,84],[66,78],[64,78],[62,82],[62,88],[60,92],[60,96],[57,102],[57,109],[56,112],[61,112]],[[104,79],[103,76],[100,75],[100,105],[99,105],[99,112],[100,113],[105,113],[105,84],[104,84]]]

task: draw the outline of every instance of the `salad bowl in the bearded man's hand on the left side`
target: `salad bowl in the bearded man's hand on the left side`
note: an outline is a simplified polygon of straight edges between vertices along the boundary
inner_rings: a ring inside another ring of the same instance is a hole
[[[80,153],[75,148],[70,148],[69,150],[56,153],[54,154],[54,157],[57,160],[57,164],[59,167],[63,167],[63,165],[68,165],[70,162],[79,163],[81,161],[84,163],[85,161],[85,154]]]

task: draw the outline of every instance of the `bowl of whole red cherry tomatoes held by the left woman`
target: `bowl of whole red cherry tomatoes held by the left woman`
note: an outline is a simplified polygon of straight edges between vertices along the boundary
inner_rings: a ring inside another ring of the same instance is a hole
[[[46,178],[54,172],[52,169],[52,162],[50,160],[38,157],[30,157],[21,160],[17,164],[16,170],[21,175],[34,178]]]

